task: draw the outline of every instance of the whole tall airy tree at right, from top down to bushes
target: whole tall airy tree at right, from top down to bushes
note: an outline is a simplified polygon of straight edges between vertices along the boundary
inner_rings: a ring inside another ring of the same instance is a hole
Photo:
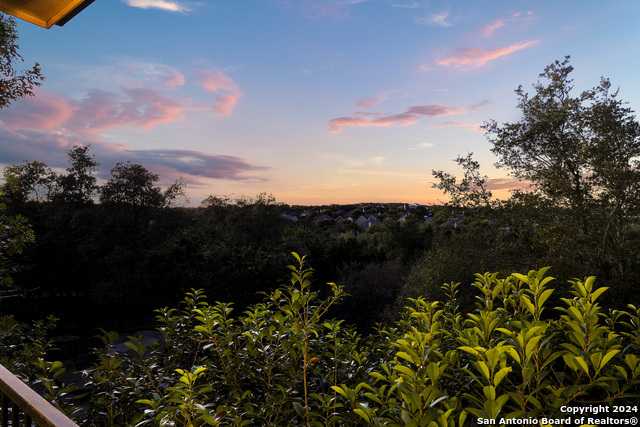
[[[484,129],[497,166],[561,208],[573,239],[592,252],[596,274],[615,266],[621,275],[615,253],[623,252],[640,206],[640,125],[608,79],[574,95],[572,71],[568,56],[547,66],[534,95],[515,91],[520,121],[490,121]]]

